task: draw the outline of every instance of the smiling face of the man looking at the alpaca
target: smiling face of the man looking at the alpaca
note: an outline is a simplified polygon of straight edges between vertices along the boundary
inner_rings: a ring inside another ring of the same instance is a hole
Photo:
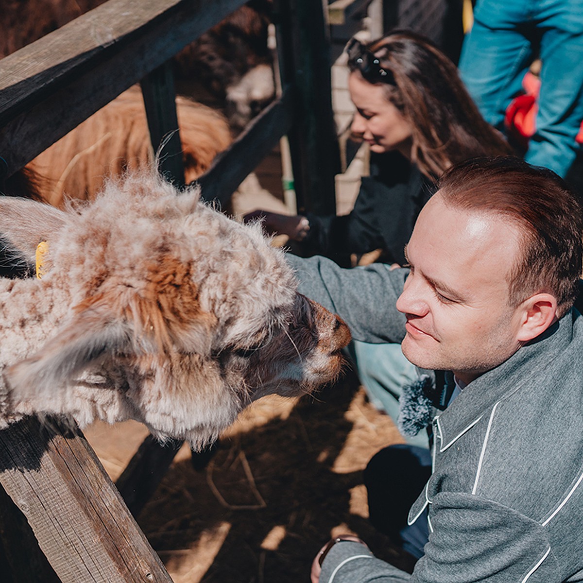
[[[522,311],[508,303],[519,231],[490,212],[448,207],[437,192],[407,245],[411,273],[397,301],[407,316],[403,354],[469,382],[520,346]]]

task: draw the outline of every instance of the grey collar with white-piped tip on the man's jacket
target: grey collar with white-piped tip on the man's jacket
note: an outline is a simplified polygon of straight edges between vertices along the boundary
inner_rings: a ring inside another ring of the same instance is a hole
[[[545,333],[518,349],[510,359],[470,382],[454,402],[435,417],[441,436],[441,443],[436,443],[440,451],[447,449],[505,396],[524,385],[532,386],[533,379],[539,379],[540,390],[544,391],[547,384],[543,371],[573,341],[577,318],[581,319],[579,312],[570,310]],[[581,333],[578,341],[583,343]]]

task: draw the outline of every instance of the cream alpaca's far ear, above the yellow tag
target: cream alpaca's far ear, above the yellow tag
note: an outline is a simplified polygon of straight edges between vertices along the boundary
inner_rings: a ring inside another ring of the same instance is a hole
[[[42,202],[0,196],[0,237],[29,261],[40,241],[46,241],[65,224],[65,213]]]

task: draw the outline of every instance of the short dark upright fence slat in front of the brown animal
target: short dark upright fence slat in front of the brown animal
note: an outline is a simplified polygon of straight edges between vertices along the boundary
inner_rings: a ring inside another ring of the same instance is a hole
[[[184,186],[184,162],[176,115],[176,92],[171,61],[166,61],[142,79],[142,96],[154,152],[159,153],[158,171],[178,188]]]

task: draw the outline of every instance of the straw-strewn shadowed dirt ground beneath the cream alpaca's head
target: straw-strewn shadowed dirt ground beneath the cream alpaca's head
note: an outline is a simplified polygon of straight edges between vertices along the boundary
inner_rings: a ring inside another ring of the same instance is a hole
[[[115,480],[147,430],[99,423],[85,434]],[[205,469],[183,446],[138,523],[175,583],[309,581],[312,558],[341,532],[399,564],[368,524],[361,470],[400,441],[349,371],[318,395],[252,405]]]

